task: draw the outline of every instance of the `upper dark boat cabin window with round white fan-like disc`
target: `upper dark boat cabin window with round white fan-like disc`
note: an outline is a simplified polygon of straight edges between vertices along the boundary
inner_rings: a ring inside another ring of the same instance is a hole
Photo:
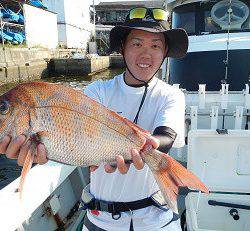
[[[173,10],[172,27],[182,27],[189,35],[250,31],[250,1],[228,0],[196,2]],[[230,28],[228,25],[230,15]]]

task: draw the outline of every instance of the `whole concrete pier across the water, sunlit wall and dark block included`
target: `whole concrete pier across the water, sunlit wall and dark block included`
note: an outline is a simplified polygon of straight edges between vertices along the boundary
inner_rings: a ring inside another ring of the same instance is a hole
[[[85,56],[73,58],[75,50],[42,48],[1,48],[0,85],[10,82],[32,81],[48,76],[86,75],[109,67],[123,68],[121,55]]]

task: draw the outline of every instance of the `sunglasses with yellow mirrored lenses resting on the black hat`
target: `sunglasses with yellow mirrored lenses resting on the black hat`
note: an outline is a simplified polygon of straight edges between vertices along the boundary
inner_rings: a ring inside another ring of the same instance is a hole
[[[161,8],[146,8],[146,7],[136,7],[129,11],[129,19],[143,19],[147,16],[152,17],[156,21],[167,21],[168,12]]]

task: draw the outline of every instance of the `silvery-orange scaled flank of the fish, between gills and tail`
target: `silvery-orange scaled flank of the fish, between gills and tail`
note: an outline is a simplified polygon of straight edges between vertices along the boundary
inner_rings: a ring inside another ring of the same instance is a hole
[[[51,160],[86,166],[114,161],[117,154],[131,159],[129,150],[139,150],[144,144],[134,129],[80,91],[60,86],[58,92],[52,84],[46,88],[41,84],[38,89],[36,85],[35,90],[24,85],[25,95],[33,101],[30,133],[40,134]]]

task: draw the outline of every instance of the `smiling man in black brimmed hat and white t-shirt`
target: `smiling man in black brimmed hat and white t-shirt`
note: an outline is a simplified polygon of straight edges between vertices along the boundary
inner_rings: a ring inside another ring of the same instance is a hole
[[[123,55],[126,70],[112,80],[90,84],[85,94],[150,131],[146,142],[154,148],[168,152],[172,146],[181,147],[184,95],[155,74],[165,57],[185,55],[186,32],[168,30],[167,12],[162,9],[135,8],[123,25],[111,30],[110,44],[111,50]],[[5,137],[0,152],[22,164],[28,149],[22,146],[24,138]],[[143,150],[131,150],[133,164],[117,156],[115,165],[91,167],[90,190],[84,195],[93,198],[89,203],[84,199],[88,212],[83,230],[181,230],[173,212],[152,199],[159,188],[142,155]],[[46,162],[41,144],[36,161]]]

